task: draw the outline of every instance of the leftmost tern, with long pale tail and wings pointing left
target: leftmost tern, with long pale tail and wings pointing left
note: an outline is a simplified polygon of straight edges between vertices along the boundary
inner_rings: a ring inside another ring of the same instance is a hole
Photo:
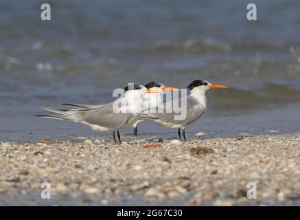
[[[143,111],[143,96],[148,93],[162,93],[161,91],[147,89],[143,85],[134,84],[132,87],[132,89],[128,86],[125,87],[125,93],[114,102],[102,105],[65,104],[75,108],[44,108],[47,111],[56,113],[56,115],[35,116],[79,122],[90,126],[94,131],[113,131],[115,143],[117,143],[115,139],[115,131],[117,131],[117,137],[119,143],[121,143],[119,129],[137,122]]]

